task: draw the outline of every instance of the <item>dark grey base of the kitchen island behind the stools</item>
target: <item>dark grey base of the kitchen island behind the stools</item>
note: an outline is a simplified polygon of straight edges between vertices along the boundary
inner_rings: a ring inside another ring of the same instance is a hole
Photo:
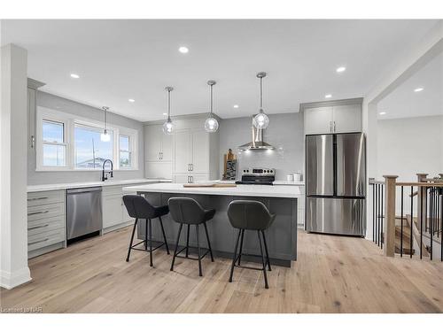
[[[152,205],[167,205],[169,197],[192,197],[204,208],[214,208],[214,219],[207,222],[209,238],[215,257],[232,258],[238,230],[232,228],[228,219],[229,202],[236,199],[253,199],[266,205],[270,212],[276,213],[276,220],[266,231],[268,251],[271,264],[278,266],[291,266],[291,260],[297,260],[297,198],[285,197],[235,197],[221,195],[193,195],[162,192],[137,192],[144,195]],[[179,224],[171,219],[170,215],[162,217],[167,235],[169,248],[175,248],[176,235]],[[146,223],[139,222],[137,237],[144,240]],[[184,227],[181,235],[180,246],[186,244],[186,231]],[[204,231],[200,229],[200,232]],[[158,220],[152,220],[152,239],[162,242],[163,236]],[[206,236],[200,235],[201,247],[206,248]],[[260,246],[257,232],[246,231],[242,259],[261,262]],[[196,230],[190,228],[190,246],[196,247]],[[163,247],[164,248],[164,247]],[[192,251],[190,251],[192,252]],[[245,254],[245,257],[243,256]]]

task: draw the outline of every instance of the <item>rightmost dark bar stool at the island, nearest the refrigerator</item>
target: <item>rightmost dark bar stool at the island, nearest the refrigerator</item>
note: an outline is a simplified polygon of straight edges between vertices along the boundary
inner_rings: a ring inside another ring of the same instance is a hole
[[[234,267],[249,268],[253,270],[262,270],[265,278],[265,288],[268,289],[268,276],[266,275],[266,266],[268,265],[269,271],[271,271],[271,263],[269,261],[268,245],[266,243],[265,230],[271,226],[276,219],[276,214],[270,213],[268,208],[261,202],[251,200],[237,200],[229,203],[228,217],[230,224],[233,228],[238,229],[237,242],[234,249],[234,256],[232,258],[232,265],[230,267],[229,282],[232,282],[232,275],[234,274]],[[259,236],[261,263],[262,267],[250,267],[240,266],[240,260],[242,257],[243,238],[245,236],[245,230],[256,230]],[[266,251],[266,263],[265,256],[263,254],[263,248],[261,245],[260,233],[263,236],[263,243]],[[241,240],[240,240],[241,237]],[[238,241],[240,241],[240,250],[237,255]],[[238,264],[236,265],[238,260]]]

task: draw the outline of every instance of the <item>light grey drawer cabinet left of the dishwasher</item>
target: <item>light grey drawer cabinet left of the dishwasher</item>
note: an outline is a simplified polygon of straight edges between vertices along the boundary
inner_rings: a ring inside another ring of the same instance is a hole
[[[27,194],[27,257],[66,247],[65,190]]]

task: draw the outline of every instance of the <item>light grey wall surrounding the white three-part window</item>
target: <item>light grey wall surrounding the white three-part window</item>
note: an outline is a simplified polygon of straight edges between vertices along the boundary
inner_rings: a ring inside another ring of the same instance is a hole
[[[43,91],[37,92],[37,105],[50,108],[59,112],[68,112],[90,120],[104,120],[104,113],[89,105],[76,103],[72,100],[51,95]],[[128,180],[144,178],[144,126],[142,122],[128,119],[112,112],[108,113],[108,123],[121,127],[136,129],[138,132],[138,170],[118,170],[114,172],[115,180]],[[35,126],[30,123],[30,126]],[[30,138],[29,138],[30,139]],[[28,141],[29,142],[29,141]],[[101,171],[60,171],[36,172],[35,149],[28,151],[29,163],[27,166],[27,184],[65,183],[78,181],[100,181]]]

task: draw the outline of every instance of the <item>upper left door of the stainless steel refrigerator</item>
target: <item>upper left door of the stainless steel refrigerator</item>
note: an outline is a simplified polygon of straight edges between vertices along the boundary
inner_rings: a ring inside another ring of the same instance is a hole
[[[307,195],[334,195],[334,135],[307,135]]]

